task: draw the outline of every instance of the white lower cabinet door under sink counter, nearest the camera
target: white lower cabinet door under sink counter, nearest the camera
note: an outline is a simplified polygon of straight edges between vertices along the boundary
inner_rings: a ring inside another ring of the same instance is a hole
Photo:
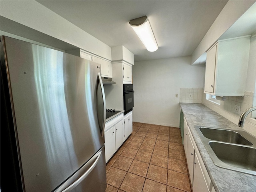
[[[204,179],[202,168],[199,164],[197,155],[195,153],[194,160],[194,182],[193,182],[193,192],[208,192],[208,187]]]

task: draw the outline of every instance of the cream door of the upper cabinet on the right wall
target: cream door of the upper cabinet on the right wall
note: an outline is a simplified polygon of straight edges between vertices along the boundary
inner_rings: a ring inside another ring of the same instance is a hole
[[[210,93],[214,92],[216,48],[217,45],[213,46],[206,54],[204,91]]]

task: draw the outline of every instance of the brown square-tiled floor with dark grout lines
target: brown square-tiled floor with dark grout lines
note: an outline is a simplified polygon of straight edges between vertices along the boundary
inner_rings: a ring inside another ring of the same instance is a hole
[[[179,128],[133,122],[106,172],[106,192],[191,192]]]

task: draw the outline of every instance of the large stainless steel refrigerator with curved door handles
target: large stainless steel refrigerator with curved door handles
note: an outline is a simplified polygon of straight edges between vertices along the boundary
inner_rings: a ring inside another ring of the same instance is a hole
[[[104,192],[100,65],[1,36],[1,191]]]

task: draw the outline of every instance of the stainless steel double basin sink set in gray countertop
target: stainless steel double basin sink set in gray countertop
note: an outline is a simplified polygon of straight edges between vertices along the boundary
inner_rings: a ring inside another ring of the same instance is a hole
[[[256,138],[242,130],[194,126],[216,166],[256,175]]]

